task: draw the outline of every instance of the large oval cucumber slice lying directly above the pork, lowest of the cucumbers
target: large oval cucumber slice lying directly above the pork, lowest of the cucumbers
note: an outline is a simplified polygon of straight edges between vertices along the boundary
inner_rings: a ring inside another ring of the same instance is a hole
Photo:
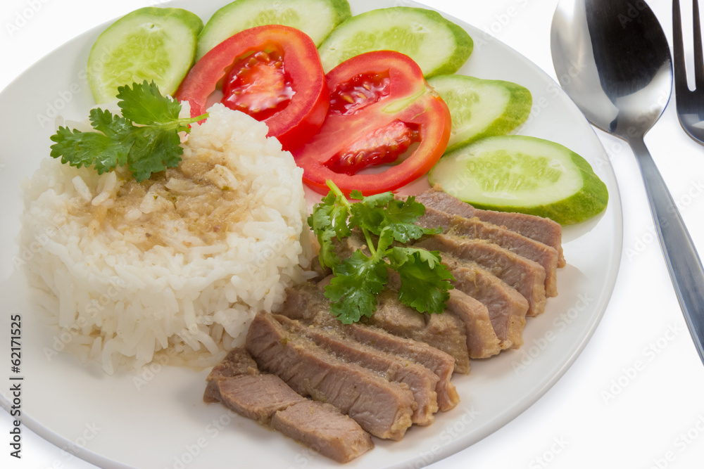
[[[477,208],[539,215],[562,225],[601,213],[609,198],[577,153],[520,135],[487,137],[444,155],[429,181]]]

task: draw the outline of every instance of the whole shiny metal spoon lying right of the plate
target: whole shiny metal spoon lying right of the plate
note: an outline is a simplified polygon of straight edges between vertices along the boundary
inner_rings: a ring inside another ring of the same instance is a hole
[[[629,143],[687,326],[704,361],[704,269],[643,136],[665,110],[672,59],[643,1],[560,0],[551,49],[562,88],[589,121]]]

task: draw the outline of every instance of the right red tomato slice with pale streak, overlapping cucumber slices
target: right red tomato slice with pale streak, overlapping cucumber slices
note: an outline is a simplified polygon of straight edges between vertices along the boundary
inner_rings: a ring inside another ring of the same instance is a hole
[[[327,179],[346,194],[394,191],[426,174],[444,153],[450,111],[410,57],[363,53],[337,65],[326,79],[325,122],[291,151],[303,181],[315,191],[327,193]]]

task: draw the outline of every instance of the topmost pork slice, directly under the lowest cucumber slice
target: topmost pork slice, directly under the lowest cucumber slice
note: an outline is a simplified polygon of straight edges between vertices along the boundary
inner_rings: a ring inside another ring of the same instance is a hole
[[[562,255],[562,226],[559,223],[536,215],[527,215],[517,212],[496,212],[494,210],[481,210],[452,195],[432,188],[419,194],[415,198],[427,207],[432,207],[442,212],[458,215],[460,217],[477,217],[498,226],[515,231],[516,233],[534,239],[540,243],[555,248],[558,252],[558,267],[565,266],[565,257]]]

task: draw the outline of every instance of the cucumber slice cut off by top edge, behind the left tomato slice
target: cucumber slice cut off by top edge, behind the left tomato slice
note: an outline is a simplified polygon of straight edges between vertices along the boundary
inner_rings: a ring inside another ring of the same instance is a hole
[[[295,27],[308,34],[317,47],[351,16],[347,0],[236,0],[213,13],[203,27],[196,60],[235,33],[263,25]]]

